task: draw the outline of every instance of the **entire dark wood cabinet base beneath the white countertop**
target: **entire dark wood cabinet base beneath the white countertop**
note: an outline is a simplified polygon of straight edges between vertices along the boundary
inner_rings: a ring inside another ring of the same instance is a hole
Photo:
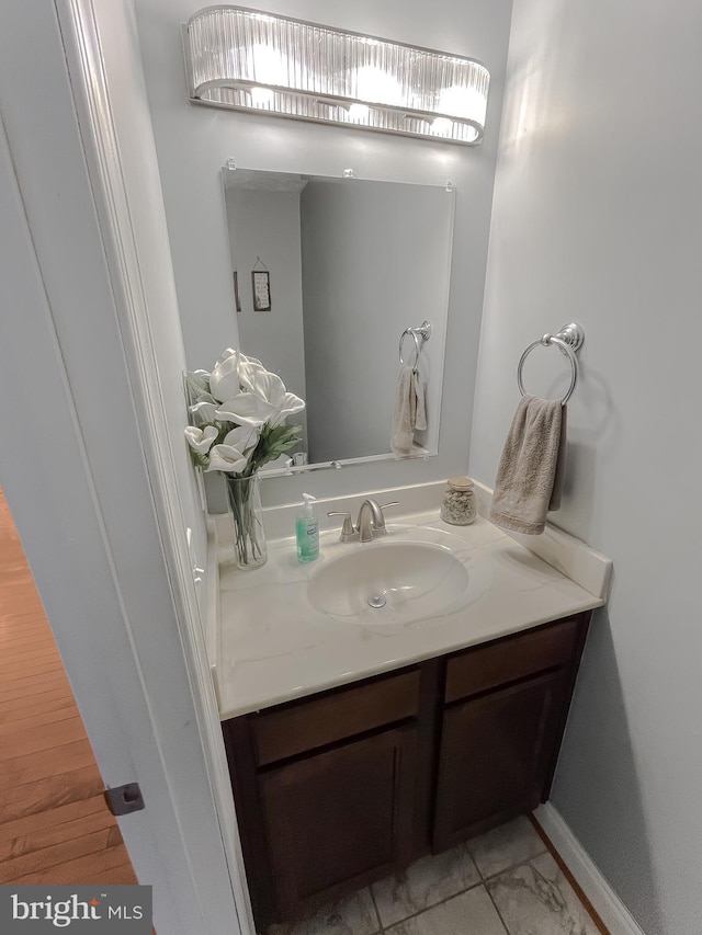
[[[225,721],[259,932],[544,801],[589,616]]]

